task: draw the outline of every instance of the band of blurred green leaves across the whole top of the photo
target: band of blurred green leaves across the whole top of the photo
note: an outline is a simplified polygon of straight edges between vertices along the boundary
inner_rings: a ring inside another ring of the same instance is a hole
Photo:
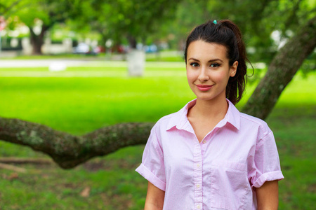
[[[279,31],[279,38],[285,41],[298,26],[314,17],[316,10],[315,2],[310,0],[0,0],[1,13],[11,29],[19,22],[31,28],[50,28],[65,22],[81,38],[96,31],[100,45],[108,39],[115,44],[166,41],[179,50],[196,25],[206,20],[230,19],[242,29],[246,45],[254,49],[249,50],[254,51],[249,53],[251,61],[268,64],[279,44],[272,40],[272,31]]]

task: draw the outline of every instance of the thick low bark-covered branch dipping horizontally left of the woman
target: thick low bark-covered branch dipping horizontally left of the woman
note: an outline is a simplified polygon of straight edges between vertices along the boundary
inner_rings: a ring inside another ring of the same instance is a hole
[[[37,123],[0,118],[0,139],[46,153],[63,169],[71,169],[119,148],[145,144],[152,126],[152,123],[117,124],[77,137]]]

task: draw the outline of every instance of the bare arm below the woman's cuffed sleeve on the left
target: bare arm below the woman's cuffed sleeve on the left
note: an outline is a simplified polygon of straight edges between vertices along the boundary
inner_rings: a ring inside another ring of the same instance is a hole
[[[164,191],[148,181],[145,210],[162,210],[164,207]]]

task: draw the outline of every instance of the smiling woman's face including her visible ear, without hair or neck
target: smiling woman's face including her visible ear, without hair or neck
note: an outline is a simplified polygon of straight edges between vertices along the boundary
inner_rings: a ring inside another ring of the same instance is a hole
[[[187,48],[187,81],[197,99],[225,99],[230,76],[235,76],[238,62],[229,65],[226,47],[217,43],[193,41]]]

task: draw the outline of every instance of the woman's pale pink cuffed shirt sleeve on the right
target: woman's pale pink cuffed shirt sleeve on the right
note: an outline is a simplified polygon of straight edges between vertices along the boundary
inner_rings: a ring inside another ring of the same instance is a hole
[[[273,133],[269,132],[256,145],[253,173],[249,177],[251,188],[260,188],[265,181],[284,179],[279,164],[279,154]]]

